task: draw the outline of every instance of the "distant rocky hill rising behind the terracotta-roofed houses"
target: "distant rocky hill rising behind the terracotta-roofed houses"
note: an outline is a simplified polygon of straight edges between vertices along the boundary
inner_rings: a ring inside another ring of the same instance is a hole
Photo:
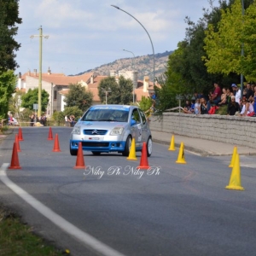
[[[111,70],[134,70],[138,73],[138,79],[143,80],[144,76],[149,76],[149,79],[153,80],[153,69],[155,77],[166,71],[166,64],[168,56],[173,51],[167,51],[164,53],[158,53],[154,55],[154,68],[153,68],[153,55],[137,56],[135,58],[124,58],[113,61],[108,64],[103,64],[101,67],[95,67],[93,69],[86,70],[78,75],[90,72],[96,72],[100,75],[108,76]]]

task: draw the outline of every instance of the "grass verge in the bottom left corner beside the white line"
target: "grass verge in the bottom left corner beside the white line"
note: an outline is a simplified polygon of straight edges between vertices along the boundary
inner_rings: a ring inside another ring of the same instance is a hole
[[[67,255],[36,236],[32,228],[22,224],[20,217],[0,205],[0,255],[59,256]],[[70,254],[69,254],[70,255]]]

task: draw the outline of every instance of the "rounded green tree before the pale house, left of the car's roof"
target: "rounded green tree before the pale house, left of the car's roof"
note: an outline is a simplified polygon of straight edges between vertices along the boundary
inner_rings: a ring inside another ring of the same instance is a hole
[[[93,94],[90,90],[85,90],[85,87],[81,84],[70,84],[64,102],[67,103],[67,107],[77,106],[84,112],[87,108],[90,108],[92,100]]]

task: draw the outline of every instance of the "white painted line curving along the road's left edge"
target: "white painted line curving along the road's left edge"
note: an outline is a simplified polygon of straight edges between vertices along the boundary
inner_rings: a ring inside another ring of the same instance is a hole
[[[57,213],[53,212],[48,207],[45,207],[40,201],[28,194],[24,189],[21,189],[18,185],[13,183],[6,175],[6,169],[9,167],[9,163],[4,163],[0,167],[0,179],[2,182],[12,189],[15,194],[19,195],[24,201],[40,212],[44,217],[48,218],[55,225],[59,226],[61,230],[66,231],[68,234],[75,236],[80,241],[83,241],[86,245],[93,248],[96,252],[102,253],[105,256],[125,256],[122,253],[117,252],[108,245],[97,240],[95,237],[90,236],[82,230],[79,230],[75,225],[68,222],[65,218],[62,218]]]

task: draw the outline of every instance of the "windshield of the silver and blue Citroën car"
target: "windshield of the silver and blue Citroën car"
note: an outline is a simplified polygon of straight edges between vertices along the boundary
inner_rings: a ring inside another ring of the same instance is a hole
[[[127,122],[128,115],[129,112],[124,109],[92,108],[85,113],[81,121]]]

